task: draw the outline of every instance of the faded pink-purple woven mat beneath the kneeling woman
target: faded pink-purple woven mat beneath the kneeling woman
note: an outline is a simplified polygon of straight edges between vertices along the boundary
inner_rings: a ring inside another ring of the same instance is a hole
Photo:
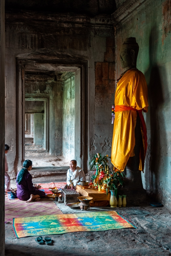
[[[5,223],[12,223],[13,218],[40,216],[45,214],[63,214],[51,198],[41,198],[40,201],[26,203],[21,200],[7,199],[5,196]]]

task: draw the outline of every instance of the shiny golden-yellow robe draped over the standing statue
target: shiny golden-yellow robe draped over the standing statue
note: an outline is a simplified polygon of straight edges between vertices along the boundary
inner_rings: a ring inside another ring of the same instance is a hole
[[[137,68],[128,70],[119,80],[115,92],[115,106],[127,106],[148,111],[148,91],[145,76]],[[115,112],[111,162],[115,168],[124,171],[130,156],[134,156],[135,126],[138,111]],[[146,127],[145,127],[146,129]],[[145,140],[141,123],[143,145],[140,149],[139,170],[144,170]]]

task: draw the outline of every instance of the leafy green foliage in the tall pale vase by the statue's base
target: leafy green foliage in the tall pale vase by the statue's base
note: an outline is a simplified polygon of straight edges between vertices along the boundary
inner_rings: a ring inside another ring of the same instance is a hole
[[[109,174],[109,177],[106,180],[103,180],[104,184],[107,184],[106,193],[108,195],[108,189],[114,190],[115,196],[117,196],[117,189],[121,185],[123,186],[123,180],[126,175],[123,172],[113,171]]]

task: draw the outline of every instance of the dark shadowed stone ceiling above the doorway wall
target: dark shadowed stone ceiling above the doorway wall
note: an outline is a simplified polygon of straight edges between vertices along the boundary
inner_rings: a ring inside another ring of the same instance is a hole
[[[6,0],[6,11],[73,12],[95,16],[111,14],[125,0]],[[117,5],[116,5],[117,3]]]

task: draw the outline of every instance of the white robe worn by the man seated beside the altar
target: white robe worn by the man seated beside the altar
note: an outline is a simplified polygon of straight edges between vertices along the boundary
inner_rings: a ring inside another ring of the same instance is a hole
[[[79,181],[80,180],[85,180],[85,174],[83,169],[80,167],[76,167],[75,171],[72,172],[71,169],[68,169],[67,171],[67,185],[70,185],[70,180],[73,182],[73,186],[76,186],[77,184],[80,185]]]

